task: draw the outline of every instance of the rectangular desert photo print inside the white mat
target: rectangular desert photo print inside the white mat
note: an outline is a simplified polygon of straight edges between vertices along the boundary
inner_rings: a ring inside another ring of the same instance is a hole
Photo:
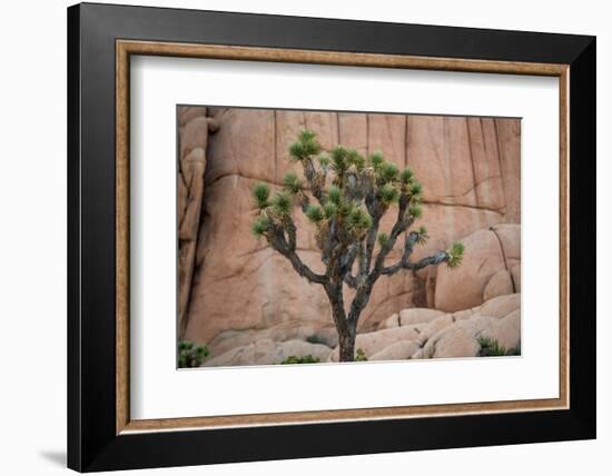
[[[521,355],[521,119],[177,107],[179,368]]]

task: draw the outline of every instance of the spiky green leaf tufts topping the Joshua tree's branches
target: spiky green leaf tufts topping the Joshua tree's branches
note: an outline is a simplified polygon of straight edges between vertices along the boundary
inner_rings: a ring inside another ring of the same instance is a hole
[[[423,216],[423,186],[413,170],[409,167],[399,169],[379,150],[368,156],[343,146],[324,151],[315,132],[306,129],[298,133],[288,152],[292,161],[303,163],[306,180],[289,171],[283,179],[283,188],[274,194],[267,184],[259,182],[254,187],[253,198],[258,215],[251,230],[257,237],[290,226],[295,208],[302,208],[306,218],[317,227],[320,242],[325,241],[320,235],[330,229],[353,241],[364,239],[381,218],[376,214],[382,215],[393,206],[401,205],[405,210],[402,219],[411,224]],[[308,194],[308,187],[318,187],[318,202],[313,200],[313,190]],[[369,205],[366,206],[368,198]],[[426,228],[415,231],[416,242],[425,244],[428,238]],[[377,231],[376,241],[381,247],[385,247],[388,239],[386,231]],[[462,245],[454,244],[447,254],[448,265],[458,266],[463,257]]]

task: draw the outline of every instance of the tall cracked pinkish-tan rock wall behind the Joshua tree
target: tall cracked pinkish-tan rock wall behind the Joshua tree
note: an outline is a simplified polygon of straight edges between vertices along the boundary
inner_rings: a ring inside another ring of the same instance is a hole
[[[231,333],[265,333],[296,323],[307,329],[292,334],[297,338],[317,329],[328,333],[332,317],[322,289],[250,234],[251,189],[258,181],[279,187],[287,171],[300,172],[287,160],[287,148],[303,128],[313,129],[325,149],[342,143],[365,153],[382,150],[387,160],[414,170],[424,187],[417,225],[426,225],[432,237],[415,259],[454,240],[466,245],[457,272],[443,266],[437,275],[424,270],[381,278],[359,333],[377,329],[402,309],[454,311],[478,306],[485,296],[520,290],[520,227],[504,225],[521,219],[519,120],[179,108],[181,338],[220,343]],[[298,252],[322,271],[314,229],[302,214],[295,217]],[[388,231],[393,219],[386,217],[383,229]],[[492,226],[495,231],[488,230]],[[392,254],[388,259],[397,258]],[[399,315],[396,320],[402,321]],[[406,348],[397,346],[388,355]]]

